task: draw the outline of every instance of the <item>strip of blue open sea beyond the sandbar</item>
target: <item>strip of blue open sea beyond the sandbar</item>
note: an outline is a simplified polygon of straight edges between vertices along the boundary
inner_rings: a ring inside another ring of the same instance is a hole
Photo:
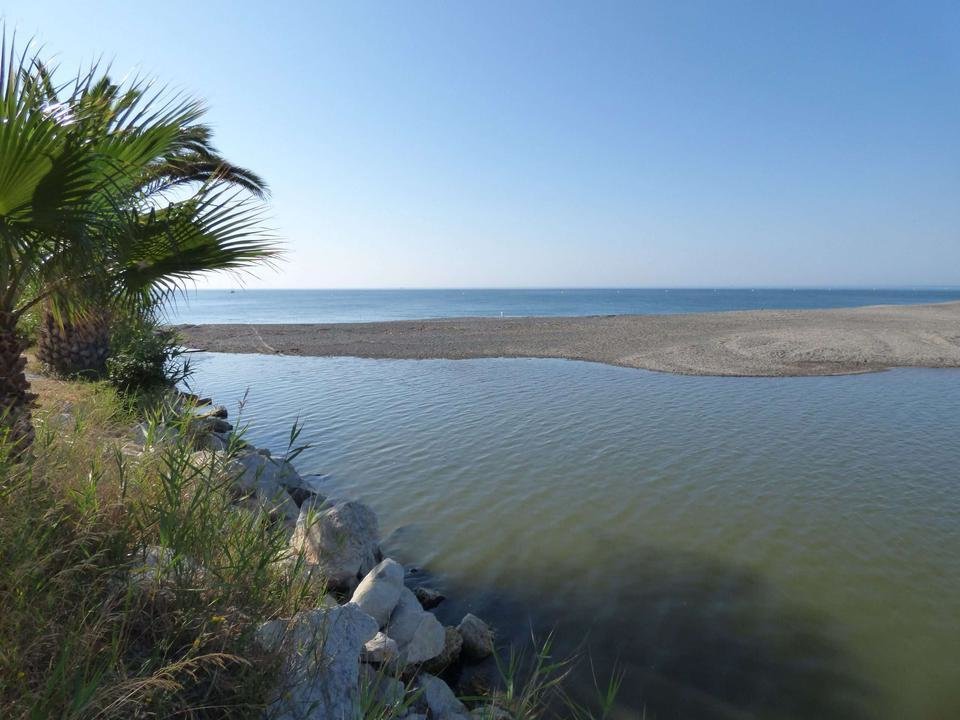
[[[947,302],[960,289],[200,290],[175,323],[319,323],[437,317],[624,315]]]

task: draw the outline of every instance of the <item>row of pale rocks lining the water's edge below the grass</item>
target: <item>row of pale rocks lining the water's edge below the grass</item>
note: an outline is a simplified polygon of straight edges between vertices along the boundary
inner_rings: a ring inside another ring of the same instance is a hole
[[[372,705],[377,718],[509,720],[492,701],[469,709],[445,680],[489,662],[493,631],[470,614],[456,627],[443,626],[430,612],[443,595],[408,587],[403,565],[381,552],[373,510],[356,500],[328,500],[269,450],[242,443],[236,450],[225,408],[186,394],[179,399],[197,406],[189,423],[195,461],[221,463],[238,506],[283,524],[289,550],[278,562],[326,582],[321,607],[269,620],[257,631],[260,645],[283,658],[265,718],[356,720],[361,706]],[[137,429],[142,445],[174,432],[182,429]],[[144,572],[161,564],[163,553],[151,548]]]

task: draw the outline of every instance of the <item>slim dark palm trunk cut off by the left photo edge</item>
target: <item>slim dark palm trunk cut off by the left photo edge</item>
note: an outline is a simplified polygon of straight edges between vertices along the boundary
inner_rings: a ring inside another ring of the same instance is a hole
[[[0,312],[0,443],[14,458],[19,458],[33,444],[30,408],[36,395],[24,368],[24,344],[17,335],[16,319]]]

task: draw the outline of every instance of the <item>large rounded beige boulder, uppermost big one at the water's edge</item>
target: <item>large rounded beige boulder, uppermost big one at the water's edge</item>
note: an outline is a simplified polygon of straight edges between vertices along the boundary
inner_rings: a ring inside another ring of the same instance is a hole
[[[361,502],[347,500],[328,508],[306,502],[290,545],[320,567],[331,589],[352,591],[379,562],[379,534],[377,516]]]

